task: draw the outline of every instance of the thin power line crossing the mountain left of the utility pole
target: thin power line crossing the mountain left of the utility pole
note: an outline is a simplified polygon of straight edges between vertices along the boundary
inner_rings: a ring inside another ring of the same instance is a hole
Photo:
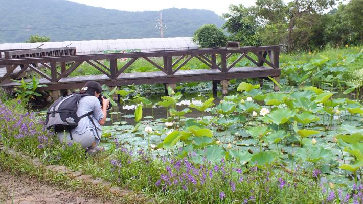
[[[64,25],[64,26],[57,26],[57,27],[39,27],[39,28],[2,28],[2,29],[0,29],[0,31],[78,29],[78,28],[90,28],[90,27],[100,27],[100,26],[106,26],[106,25],[139,23],[139,22],[148,22],[148,21],[154,21],[154,20],[125,21],[125,22],[90,24],[90,25]]]

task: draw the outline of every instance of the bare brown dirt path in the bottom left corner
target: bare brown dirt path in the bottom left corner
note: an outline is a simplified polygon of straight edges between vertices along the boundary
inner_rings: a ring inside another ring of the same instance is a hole
[[[85,197],[80,191],[69,192],[59,190],[56,186],[41,183],[36,179],[14,176],[8,172],[0,172],[0,203],[11,204],[33,203],[107,203],[100,198]]]

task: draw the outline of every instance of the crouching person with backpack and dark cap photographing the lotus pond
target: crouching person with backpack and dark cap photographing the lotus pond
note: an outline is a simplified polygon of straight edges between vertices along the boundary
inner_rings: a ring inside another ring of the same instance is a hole
[[[101,92],[99,83],[88,81],[80,91],[58,99],[48,109],[47,128],[55,130],[61,142],[80,143],[89,154],[102,151],[103,147],[98,146],[101,125],[106,121],[110,103]]]

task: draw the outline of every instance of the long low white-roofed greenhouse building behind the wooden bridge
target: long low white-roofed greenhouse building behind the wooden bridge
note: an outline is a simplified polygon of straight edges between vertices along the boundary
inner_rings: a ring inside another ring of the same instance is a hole
[[[44,45],[42,45],[44,44]],[[196,49],[191,37],[177,38],[144,38],[144,39],[118,39],[118,40],[88,40],[65,42],[39,42],[39,43],[4,43],[0,50],[5,49],[34,49],[76,47],[77,55],[120,53],[120,52],[147,52],[157,50]]]

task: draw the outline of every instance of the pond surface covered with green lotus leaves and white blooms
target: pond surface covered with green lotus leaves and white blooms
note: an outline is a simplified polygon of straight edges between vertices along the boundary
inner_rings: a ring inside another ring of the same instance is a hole
[[[103,145],[117,140],[125,148],[143,149],[154,157],[189,154],[195,163],[219,164],[224,158],[243,171],[248,165],[264,168],[279,161],[288,171],[319,169],[327,175],[325,183],[342,187],[360,179],[363,107],[359,101],[312,86],[269,92],[247,82],[220,101],[208,94],[186,100],[182,93],[168,91],[169,96],[154,104],[140,95],[130,97],[130,103],[140,108],[134,114],[111,113],[119,116],[111,115],[110,125],[104,127]],[[164,117],[143,114],[148,106],[164,109]],[[125,120],[137,117],[137,123]]]

